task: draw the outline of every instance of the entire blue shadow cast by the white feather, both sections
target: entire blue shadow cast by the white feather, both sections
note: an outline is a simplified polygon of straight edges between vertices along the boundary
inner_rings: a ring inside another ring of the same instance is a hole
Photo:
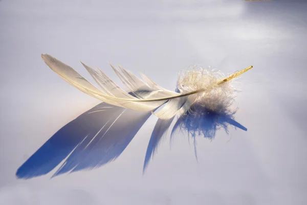
[[[192,137],[195,142],[195,137],[199,135],[213,138],[218,129],[228,132],[229,125],[246,131],[234,120],[234,114],[227,110],[214,112],[194,105],[177,119],[170,139]],[[150,115],[151,112],[137,112],[101,103],[57,131],[19,167],[16,176],[28,179],[45,175],[60,163],[52,177],[101,167],[120,156]],[[173,119],[158,119],[147,147],[143,173],[167,136]]]

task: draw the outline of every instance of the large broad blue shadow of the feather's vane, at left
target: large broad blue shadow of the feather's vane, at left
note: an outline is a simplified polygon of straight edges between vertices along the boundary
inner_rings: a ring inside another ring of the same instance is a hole
[[[18,168],[16,176],[45,175],[62,161],[53,177],[101,167],[124,151],[150,115],[101,103],[57,131]]]

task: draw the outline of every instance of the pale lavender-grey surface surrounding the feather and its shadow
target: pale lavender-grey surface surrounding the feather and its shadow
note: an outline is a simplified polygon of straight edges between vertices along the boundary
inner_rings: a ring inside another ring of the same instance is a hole
[[[304,1],[0,2],[1,204],[307,204]],[[17,168],[58,129],[99,101],[53,73],[49,53],[93,81],[79,63],[142,71],[170,90],[191,64],[240,79],[238,122],[247,132],[165,142],[142,166],[157,118],[123,154],[92,171],[18,180]]]

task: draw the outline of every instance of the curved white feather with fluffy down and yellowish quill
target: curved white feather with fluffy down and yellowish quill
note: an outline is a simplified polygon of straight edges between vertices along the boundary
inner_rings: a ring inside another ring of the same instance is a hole
[[[178,89],[181,93],[176,93],[162,89],[145,75],[142,75],[142,77],[143,79],[145,78],[146,84],[143,80],[121,66],[119,66],[120,72],[111,65],[123,84],[134,94],[129,95],[124,90],[120,89],[111,79],[102,73],[102,71],[95,71],[82,63],[85,69],[90,72],[97,84],[102,88],[102,90],[99,90],[73,68],[65,65],[53,56],[41,54],[41,57],[54,72],[60,75],[69,84],[107,104],[136,111],[153,111],[166,104],[162,110],[158,113],[154,113],[161,119],[169,119],[178,113],[186,112],[196,101],[204,101],[206,104],[206,100],[208,101],[210,97],[212,98],[215,93],[224,92],[226,94],[225,90],[229,88],[228,81],[252,68],[252,66],[250,66],[222,79],[217,78],[215,75],[210,75],[209,73],[204,74],[204,69],[187,72],[185,75],[181,76],[181,81],[179,81],[180,84],[178,85]],[[225,95],[222,97],[225,97]],[[215,104],[212,100],[210,103]],[[214,109],[214,105],[211,105],[211,107]]]

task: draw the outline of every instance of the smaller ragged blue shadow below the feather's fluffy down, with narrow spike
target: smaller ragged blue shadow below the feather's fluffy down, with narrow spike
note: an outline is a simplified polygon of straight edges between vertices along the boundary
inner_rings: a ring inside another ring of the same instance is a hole
[[[193,104],[190,109],[181,115],[174,123],[170,135],[170,143],[172,144],[173,141],[179,137],[188,137],[188,139],[192,138],[195,158],[198,160],[196,152],[197,136],[213,139],[217,130],[223,129],[228,134],[228,128],[230,125],[234,126],[235,129],[239,128],[247,131],[246,127],[234,120],[235,113],[236,110],[231,112],[223,107],[221,107],[220,110],[213,111],[200,104]],[[173,118],[167,120],[159,119],[153,129],[146,151],[143,173],[146,171],[150,159],[152,159],[153,155],[157,153],[158,147],[165,138]]]

